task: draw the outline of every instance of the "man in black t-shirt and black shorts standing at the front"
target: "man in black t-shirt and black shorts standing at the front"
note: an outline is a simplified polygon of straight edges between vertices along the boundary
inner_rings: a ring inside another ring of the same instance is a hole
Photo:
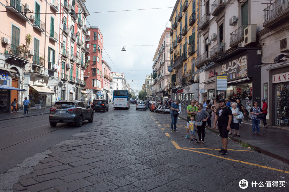
[[[214,129],[216,129],[216,123],[218,122],[220,137],[222,140],[223,148],[218,152],[222,155],[227,154],[227,146],[228,146],[228,133],[230,130],[230,124],[232,121],[232,110],[225,105],[225,99],[219,100],[220,107],[217,109],[215,122],[214,122]]]

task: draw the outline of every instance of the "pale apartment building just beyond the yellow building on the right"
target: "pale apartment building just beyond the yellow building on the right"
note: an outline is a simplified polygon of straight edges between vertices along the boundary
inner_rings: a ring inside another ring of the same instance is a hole
[[[157,50],[153,58],[153,74],[152,74],[152,89],[153,94],[147,92],[147,96],[155,100],[162,100],[164,98],[168,99],[168,91],[170,84],[170,71],[168,67],[170,66],[170,30],[167,27],[160,38]],[[148,80],[146,77],[146,83]],[[145,84],[146,89],[148,84]],[[150,90],[150,89],[149,89]]]

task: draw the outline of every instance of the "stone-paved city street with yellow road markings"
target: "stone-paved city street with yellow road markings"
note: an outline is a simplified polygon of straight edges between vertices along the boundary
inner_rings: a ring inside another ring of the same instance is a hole
[[[221,155],[211,131],[191,143],[170,114],[132,104],[94,115],[81,128],[52,128],[48,114],[2,121],[0,191],[288,191],[288,164],[232,140]]]

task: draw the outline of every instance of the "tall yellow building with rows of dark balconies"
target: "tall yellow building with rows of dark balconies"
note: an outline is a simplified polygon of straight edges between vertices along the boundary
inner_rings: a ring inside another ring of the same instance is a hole
[[[198,49],[197,8],[195,0],[177,0],[170,16],[170,94],[173,100],[181,100],[183,108],[190,104],[190,99],[198,97],[198,85],[194,83],[197,81],[194,75]]]

